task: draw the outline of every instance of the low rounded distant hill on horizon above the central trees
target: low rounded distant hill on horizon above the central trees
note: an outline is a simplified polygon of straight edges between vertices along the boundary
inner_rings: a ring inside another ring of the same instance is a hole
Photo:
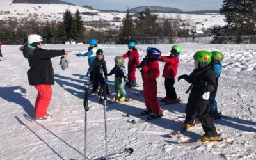
[[[135,8],[131,8],[131,13],[141,12],[145,10],[145,8],[149,8],[151,12],[169,12],[169,13],[177,13],[177,12],[183,12],[180,9],[172,8],[172,7],[162,7],[162,6],[139,6]]]

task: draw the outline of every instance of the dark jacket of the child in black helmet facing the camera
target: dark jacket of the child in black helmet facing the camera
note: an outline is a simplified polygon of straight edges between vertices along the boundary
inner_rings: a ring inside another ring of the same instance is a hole
[[[107,76],[107,67],[106,67],[106,61],[104,60],[104,57],[102,60],[98,60],[97,58],[92,62],[92,65],[90,65],[89,72],[93,71],[93,75],[95,76]]]

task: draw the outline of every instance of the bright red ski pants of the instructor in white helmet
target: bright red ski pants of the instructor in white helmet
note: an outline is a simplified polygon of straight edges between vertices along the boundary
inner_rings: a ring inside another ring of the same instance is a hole
[[[43,117],[47,114],[47,108],[52,98],[52,86],[49,84],[36,85],[38,95],[35,102],[35,118]]]

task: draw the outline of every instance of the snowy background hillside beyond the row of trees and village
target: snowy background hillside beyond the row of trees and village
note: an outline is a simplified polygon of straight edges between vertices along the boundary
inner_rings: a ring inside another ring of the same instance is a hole
[[[38,21],[47,21],[47,20],[62,20],[63,13],[65,10],[71,10],[72,13],[75,13],[78,9],[79,12],[88,12],[95,13],[95,15],[81,15],[84,21],[92,20],[107,20],[111,21],[114,17],[120,17],[122,20],[125,17],[126,13],[106,13],[100,12],[98,10],[90,10],[80,6],[71,6],[71,5],[61,5],[61,4],[12,4],[12,0],[1,0],[0,1],[0,20],[8,20],[10,18],[17,18],[22,20],[24,18],[28,20],[38,20]],[[7,13],[6,13],[7,12]],[[8,13],[10,12],[10,13]],[[35,16],[38,15],[38,16]],[[207,15],[188,15],[188,14],[175,14],[175,13],[154,13],[159,15],[159,18],[170,19],[170,17],[180,17],[184,19],[184,22],[191,22],[191,25],[196,26],[196,31],[202,31],[202,28],[205,29],[214,26],[220,25],[224,26],[224,15],[218,14],[207,14]],[[207,19],[207,20],[206,20]],[[202,22],[202,24],[195,24],[196,22]],[[122,22],[115,22],[115,26],[120,26]]]

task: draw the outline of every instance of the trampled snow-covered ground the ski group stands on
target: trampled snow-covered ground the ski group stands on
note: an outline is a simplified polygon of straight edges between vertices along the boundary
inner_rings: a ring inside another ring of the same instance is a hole
[[[152,45],[168,54],[173,44]],[[180,141],[194,141],[204,132],[200,125],[178,138],[166,134],[176,131],[184,123],[184,109],[188,99],[186,81],[176,81],[175,88],[181,97],[180,104],[161,106],[163,118],[131,124],[123,115],[138,114],[145,108],[143,97],[133,92],[143,88],[127,89],[134,102],[124,104],[107,103],[108,153],[114,154],[125,147],[134,148],[127,159],[255,159],[256,144],[256,45],[249,44],[179,44],[180,55],[178,75],[193,70],[193,54],[201,49],[221,51],[225,55],[216,100],[218,109],[226,119],[214,120],[218,133],[223,133],[233,145],[207,143],[201,145],[180,145]],[[149,45],[138,45],[140,60]],[[44,45],[46,49],[83,51],[88,45]],[[114,57],[127,51],[126,45],[100,45],[104,50],[108,70],[114,67]],[[26,72],[28,61],[19,51],[19,45],[3,45],[6,58],[0,61],[0,159],[83,159],[84,156],[84,90],[81,86],[88,81],[84,76],[88,69],[87,58],[77,58],[74,53],[67,56],[70,66],[61,70],[60,58],[52,58],[55,85],[52,86],[52,100],[49,110],[51,120],[35,122],[33,104],[36,89],[29,86]],[[125,66],[127,60],[125,60]],[[159,63],[161,72],[164,63]],[[141,74],[136,72],[142,86]],[[113,79],[108,84],[113,90]],[[164,97],[164,78],[159,77],[158,97]],[[115,95],[109,96],[109,98]],[[104,106],[97,97],[89,97],[88,111],[88,159],[103,157],[104,150]],[[141,118],[141,117],[140,117]],[[254,158],[253,158],[254,157]]]

